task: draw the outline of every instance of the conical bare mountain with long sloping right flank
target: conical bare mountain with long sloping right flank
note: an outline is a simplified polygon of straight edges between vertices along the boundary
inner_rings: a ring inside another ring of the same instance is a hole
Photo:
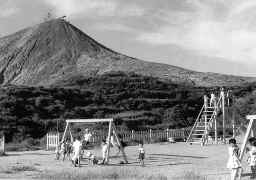
[[[106,48],[65,20],[47,21],[0,39],[0,84],[44,86],[113,70],[205,86],[256,81],[134,59]]]

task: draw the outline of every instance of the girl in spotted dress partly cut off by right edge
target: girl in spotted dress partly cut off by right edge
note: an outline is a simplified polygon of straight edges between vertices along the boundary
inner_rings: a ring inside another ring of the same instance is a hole
[[[250,143],[252,147],[252,149],[250,150],[248,147],[246,148],[246,153],[249,152],[249,157],[247,160],[247,164],[249,166],[251,166],[251,170],[253,173],[253,177],[252,179],[255,180],[256,179],[256,159],[255,159],[255,155],[256,155],[256,139],[255,138],[250,138],[248,140],[248,142]]]

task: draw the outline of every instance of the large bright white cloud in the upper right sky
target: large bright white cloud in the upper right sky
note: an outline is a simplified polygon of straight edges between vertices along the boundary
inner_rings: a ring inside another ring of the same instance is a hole
[[[214,2],[189,0],[183,4],[186,10],[161,10],[152,16],[162,22],[161,27],[141,33],[138,40],[151,45],[178,45],[200,56],[253,62],[256,57],[256,22],[253,19],[256,2]]]

